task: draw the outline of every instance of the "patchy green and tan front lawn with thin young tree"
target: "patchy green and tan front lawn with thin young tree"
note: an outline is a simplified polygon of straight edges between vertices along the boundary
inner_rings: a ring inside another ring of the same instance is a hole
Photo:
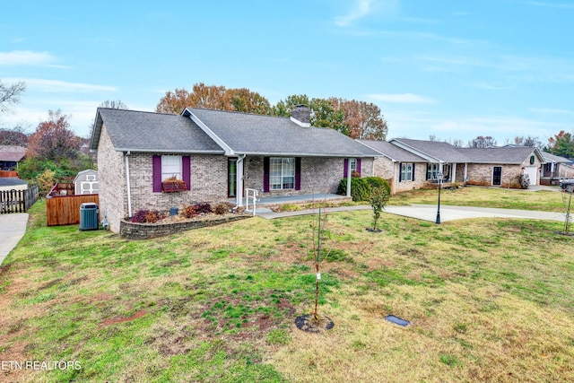
[[[0,268],[0,361],[81,368],[3,369],[8,381],[574,376],[574,238],[557,233],[561,222],[383,213],[383,232],[371,233],[370,211],[331,213],[319,309],[335,327],[317,335],[294,326],[314,304],[310,216],[131,241],[48,228],[44,212],[32,208]]]

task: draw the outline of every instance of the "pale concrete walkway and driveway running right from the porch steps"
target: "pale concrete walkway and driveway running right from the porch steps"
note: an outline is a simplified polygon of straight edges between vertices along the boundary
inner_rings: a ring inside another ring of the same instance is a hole
[[[324,213],[345,212],[353,210],[370,210],[370,205],[327,207]],[[305,215],[317,213],[317,209],[300,210],[298,212],[274,213],[268,209],[257,209],[257,215],[273,220],[274,218],[292,217],[295,215]],[[408,205],[408,206],[386,206],[384,213],[401,215],[404,217],[416,218],[422,221],[436,222],[437,205]],[[549,220],[564,222],[563,213],[533,212],[529,210],[494,209],[488,207],[469,206],[440,206],[440,222],[454,220],[464,220],[466,218],[523,218],[535,220]]]

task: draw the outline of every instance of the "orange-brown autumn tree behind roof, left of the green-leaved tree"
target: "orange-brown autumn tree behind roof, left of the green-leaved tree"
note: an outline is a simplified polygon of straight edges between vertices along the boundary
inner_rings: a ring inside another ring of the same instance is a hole
[[[226,89],[224,86],[196,83],[191,92],[185,89],[167,91],[156,107],[159,113],[179,114],[183,109],[207,108],[245,113],[269,114],[269,101],[246,88]]]

